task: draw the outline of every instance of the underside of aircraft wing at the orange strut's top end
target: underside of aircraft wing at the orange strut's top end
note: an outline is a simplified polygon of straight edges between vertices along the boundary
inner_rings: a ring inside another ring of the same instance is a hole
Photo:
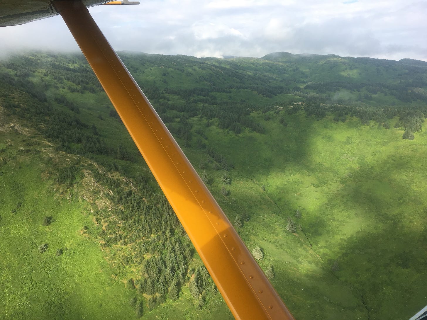
[[[107,2],[108,0],[83,0],[86,7]],[[0,0],[0,26],[18,26],[56,15],[58,13],[47,0]]]

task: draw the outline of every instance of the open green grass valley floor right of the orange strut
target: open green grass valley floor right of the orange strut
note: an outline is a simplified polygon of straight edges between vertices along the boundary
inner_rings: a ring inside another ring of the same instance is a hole
[[[409,141],[401,130],[353,118],[297,114],[287,122],[265,122],[265,135],[210,129],[238,171],[230,186],[236,200],[220,201],[231,212],[250,212],[241,231],[246,244],[263,247],[278,270],[273,283],[297,318],[410,317],[427,303],[425,131]],[[252,180],[245,185],[240,177]],[[288,217],[302,230],[287,232]]]

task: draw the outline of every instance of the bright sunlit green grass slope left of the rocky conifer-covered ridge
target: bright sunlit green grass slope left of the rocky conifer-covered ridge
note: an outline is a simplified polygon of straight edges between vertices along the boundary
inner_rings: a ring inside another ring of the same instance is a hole
[[[2,318],[134,319],[123,303],[129,292],[112,278],[99,244],[83,233],[91,215],[79,201],[57,198],[40,158],[26,159],[0,168]],[[44,226],[46,216],[53,219]]]

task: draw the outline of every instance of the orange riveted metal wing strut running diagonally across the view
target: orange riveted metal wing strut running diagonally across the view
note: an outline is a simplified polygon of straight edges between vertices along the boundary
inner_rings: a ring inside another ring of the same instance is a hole
[[[55,0],[236,319],[294,319],[81,0]]]

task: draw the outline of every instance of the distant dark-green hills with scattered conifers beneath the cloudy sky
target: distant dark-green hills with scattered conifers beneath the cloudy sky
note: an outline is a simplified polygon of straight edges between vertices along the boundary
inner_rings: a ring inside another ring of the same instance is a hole
[[[427,117],[424,61],[287,52],[260,59],[120,55],[170,131],[186,145],[192,140],[203,145],[203,136],[191,131],[188,119],[193,116],[217,119],[219,128],[237,134],[244,128],[263,133],[251,111],[266,113],[276,111],[277,106],[285,113],[304,111],[316,119],[330,114],[333,121],[345,122],[348,116],[356,116],[361,125],[373,120],[386,129],[389,120],[398,117],[392,125],[405,130],[404,139],[414,139]],[[9,58],[0,63],[0,82],[38,101],[37,108],[20,108],[7,99],[3,103],[11,113],[43,123],[41,132],[56,140],[62,150],[79,154],[117,151],[105,145],[94,125],[73,115],[79,113],[79,105],[69,101],[70,94],[89,97],[88,93],[102,91],[82,55],[32,52]],[[58,111],[53,104],[73,113]],[[118,119],[113,109],[109,115]]]

